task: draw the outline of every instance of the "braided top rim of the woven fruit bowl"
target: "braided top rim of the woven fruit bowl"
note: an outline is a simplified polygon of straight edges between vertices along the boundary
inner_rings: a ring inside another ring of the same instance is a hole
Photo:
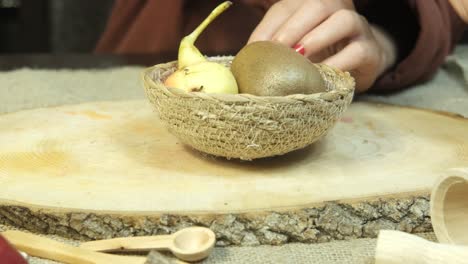
[[[214,57],[207,57],[207,59],[211,61],[226,61],[232,60],[234,56],[214,56]],[[349,72],[344,72],[339,69],[333,68],[328,65],[321,64],[322,67],[328,67],[333,69],[334,71],[346,75],[346,77],[350,78],[352,85],[351,87],[336,87],[331,91],[326,92],[319,92],[313,94],[290,94],[286,96],[258,96],[253,94],[217,94],[217,93],[203,93],[203,92],[186,92],[179,88],[174,87],[166,87],[162,82],[157,82],[150,77],[150,74],[158,68],[167,68],[167,67],[174,67],[177,65],[177,60],[159,63],[150,67],[147,67],[141,73],[141,79],[144,83],[150,85],[152,88],[163,89],[164,92],[172,94],[174,96],[179,97],[187,97],[187,98],[202,98],[202,99],[212,99],[216,101],[225,101],[225,102],[247,102],[247,101],[264,101],[264,102],[292,102],[292,101],[315,101],[317,99],[325,100],[325,101],[334,101],[340,98],[344,98],[349,96],[350,94],[354,94],[355,91],[355,81],[354,78],[351,76]]]

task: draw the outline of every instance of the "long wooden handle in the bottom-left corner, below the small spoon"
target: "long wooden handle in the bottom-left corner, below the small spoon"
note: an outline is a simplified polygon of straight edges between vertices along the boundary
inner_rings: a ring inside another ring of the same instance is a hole
[[[2,235],[18,250],[30,256],[64,263],[143,264],[145,257],[113,256],[57,242],[21,231],[5,231]],[[1,262],[1,261],[0,261]]]

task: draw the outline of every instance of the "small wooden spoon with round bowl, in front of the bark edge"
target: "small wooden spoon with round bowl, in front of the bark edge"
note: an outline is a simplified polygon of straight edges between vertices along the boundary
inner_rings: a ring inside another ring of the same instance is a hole
[[[199,261],[211,253],[216,236],[205,227],[188,227],[171,235],[120,237],[84,242],[81,248],[101,252],[170,250],[185,261]]]

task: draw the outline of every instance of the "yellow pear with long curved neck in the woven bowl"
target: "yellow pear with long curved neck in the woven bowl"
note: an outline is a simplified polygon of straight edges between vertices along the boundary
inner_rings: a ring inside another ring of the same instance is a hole
[[[236,79],[231,70],[219,63],[208,61],[194,43],[205,28],[232,2],[226,1],[217,6],[211,14],[180,42],[177,71],[171,74],[164,85],[187,92],[237,94]]]

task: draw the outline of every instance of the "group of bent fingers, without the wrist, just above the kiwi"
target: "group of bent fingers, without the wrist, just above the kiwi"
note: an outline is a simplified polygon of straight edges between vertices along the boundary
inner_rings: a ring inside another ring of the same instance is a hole
[[[348,3],[346,0],[279,1],[266,13],[248,42],[273,40],[293,47],[302,41],[306,51],[310,46],[311,52],[315,52],[319,49],[315,46],[323,48],[327,43],[338,41],[340,35],[349,35],[356,30],[353,26],[359,22],[359,16],[351,10],[352,1]],[[318,27],[320,30],[314,32]],[[315,38],[321,38],[319,45],[312,45]]]

